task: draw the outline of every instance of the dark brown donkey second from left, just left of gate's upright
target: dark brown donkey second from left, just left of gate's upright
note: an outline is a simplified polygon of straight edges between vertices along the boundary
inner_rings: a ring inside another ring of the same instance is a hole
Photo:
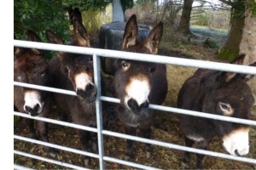
[[[51,30],[46,31],[49,42],[63,44]],[[73,19],[73,46],[90,47],[87,31],[82,23]],[[79,125],[96,127],[96,85],[94,83],[92,56],[59,52],[49,61],[49,73],[54,88],[73,90],[77,96],[53,94],[55,104],[60,110],[71,116]],[[102,84],[104,84],[102,79]],[[84,130],[77,130],[82,149],[97,152],[97,136]],[[91,147],[90,147],[91,142]],[[88,166],[89,157],[85,156],[84,164]]]

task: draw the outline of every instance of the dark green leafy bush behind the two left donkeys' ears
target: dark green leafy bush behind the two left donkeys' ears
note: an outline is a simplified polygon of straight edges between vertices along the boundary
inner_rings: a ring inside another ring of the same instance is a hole
[[[14,11],[14,33],[17,39],[26,40],[26,30],[32,29],[46,42],[44,31],[51,28],[64,42],[69,40],[68,17],[61,1],[15,0]]]

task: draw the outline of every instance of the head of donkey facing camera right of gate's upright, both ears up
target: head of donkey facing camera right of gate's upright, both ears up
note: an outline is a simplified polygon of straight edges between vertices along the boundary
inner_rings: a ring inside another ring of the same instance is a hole
[[[138,44],[137,19],[133,14],[127,21],[123,35],[123,50],[126,52],[157,54],[163,33],[163,23],[159,22],[142,44]],[[117,72],[114,77],[116,93],[121,104],[130,111],[138,113],[148,108],[152,83],[160,73],[160,66],[150,62],[135,60],[115,60]]]

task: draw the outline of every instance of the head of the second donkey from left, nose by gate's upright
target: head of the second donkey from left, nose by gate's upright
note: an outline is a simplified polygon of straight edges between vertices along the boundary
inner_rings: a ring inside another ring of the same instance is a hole
[[[46,31],[49,42],[63,44],[51,30]],[[90,40],[82,23],[73,19],[73,46],[90,47]],[[92,56],[85,54],[58,53],[63,74],[73,83],[73,89],[82,99],[92,102],[96,99]]]

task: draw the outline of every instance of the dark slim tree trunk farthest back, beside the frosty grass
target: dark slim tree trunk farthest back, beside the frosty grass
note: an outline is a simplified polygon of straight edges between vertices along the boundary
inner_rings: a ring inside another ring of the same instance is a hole
[[[184,3],[183,3],[183,13],[177,29],[183,34],[191,34],[189,25],[190,25],[190,14],[192,11],[193,2],[194,0],[184,0]]]

